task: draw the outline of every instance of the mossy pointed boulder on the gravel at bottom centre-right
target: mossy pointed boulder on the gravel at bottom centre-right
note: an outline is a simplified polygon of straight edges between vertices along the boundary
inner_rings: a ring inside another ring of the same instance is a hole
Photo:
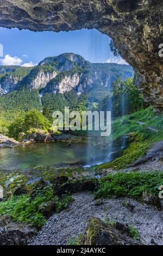
[[[116,227],[105,224],[99,218],[90,218],[85,228],[80,245],[143,245],[123,234]]]

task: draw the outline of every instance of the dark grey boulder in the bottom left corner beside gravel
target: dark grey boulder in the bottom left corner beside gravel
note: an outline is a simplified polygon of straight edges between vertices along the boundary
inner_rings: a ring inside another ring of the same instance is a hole
[[[26,245],[34,234],[34,229],[27,225],[11,222],[8,215],[0,216],[0,245]]]

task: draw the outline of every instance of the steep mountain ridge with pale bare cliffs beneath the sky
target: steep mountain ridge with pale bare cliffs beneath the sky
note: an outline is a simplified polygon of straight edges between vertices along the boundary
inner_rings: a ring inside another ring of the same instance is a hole
[[[109,90],[117,78],[133,77],[129,65],[90,63],[74,53],[43,59],[34,68],[0,66],[0,95],[20,89],[41,89],[41,93],[77,93],[93,87]]]

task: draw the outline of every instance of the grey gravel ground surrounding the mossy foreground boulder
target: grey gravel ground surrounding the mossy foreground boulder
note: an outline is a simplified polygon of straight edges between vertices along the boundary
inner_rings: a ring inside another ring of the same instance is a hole
[[[70,208],[51,216],[41,231],[29,240],[30,245],[66,245],[70,238],[82,233],[90,217],[132,224],[139,229],[143,242],[163,245],[162,211],[130,198],[105,199],[99,205],[88,192],[73,194],[73,198]],[[133,205],[134,210],[127,209],[124,201]]]

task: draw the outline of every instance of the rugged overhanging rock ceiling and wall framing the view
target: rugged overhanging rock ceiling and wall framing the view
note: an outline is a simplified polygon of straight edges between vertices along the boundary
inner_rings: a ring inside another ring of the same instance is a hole
[[[162,0],[0,0],[0,26],[55,32],[98,29],[135,69],[145,101],[163,108],[163,57],[158,54]]]

